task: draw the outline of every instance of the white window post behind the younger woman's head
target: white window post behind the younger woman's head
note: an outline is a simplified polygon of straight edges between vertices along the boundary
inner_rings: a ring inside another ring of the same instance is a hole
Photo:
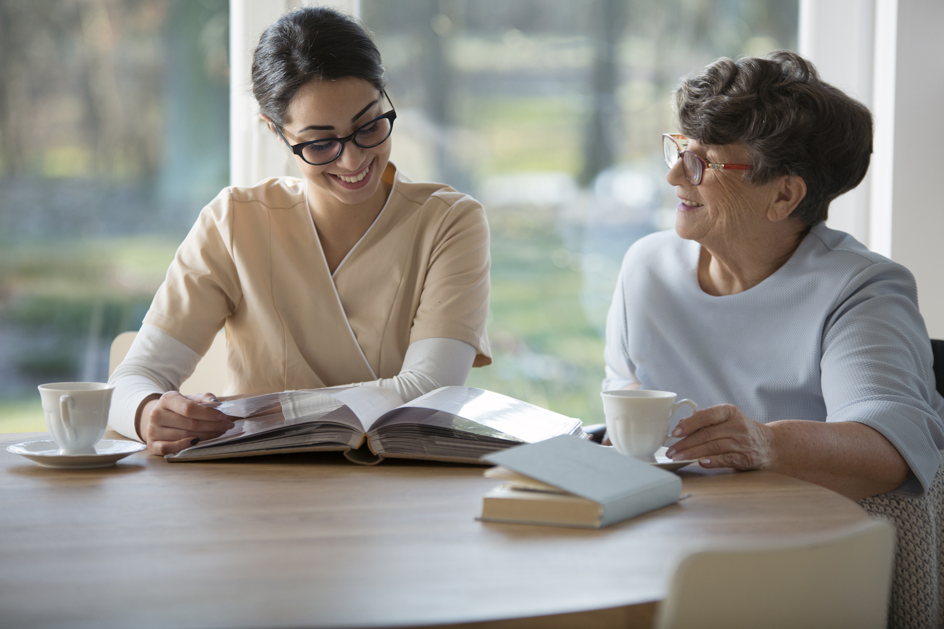
[[[301,176],[295,158],[261,122],[252,96],[252,51],[266,26],[290,8],[337,7],[357,17],[359,0],[230,0],[229,2],[229,183],[253,186],[261,179]]]

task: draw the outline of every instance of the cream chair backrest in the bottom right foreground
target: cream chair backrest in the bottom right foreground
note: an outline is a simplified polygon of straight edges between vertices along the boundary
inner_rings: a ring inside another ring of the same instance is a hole
[[[672,578],[655,626],[885,627],[894,546],[894,527],[876,520],[776,547],[688,555]]]

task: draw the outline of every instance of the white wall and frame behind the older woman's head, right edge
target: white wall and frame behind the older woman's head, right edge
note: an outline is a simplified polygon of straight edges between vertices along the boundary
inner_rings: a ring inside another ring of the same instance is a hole
[[[801,0],[800,52],[822,77],[872,109],[867,180],[835,200],[830,226],[901,262],[918,280],[921,313],[944,338],[944,209],[932,159],[944,137],[944,2]]]

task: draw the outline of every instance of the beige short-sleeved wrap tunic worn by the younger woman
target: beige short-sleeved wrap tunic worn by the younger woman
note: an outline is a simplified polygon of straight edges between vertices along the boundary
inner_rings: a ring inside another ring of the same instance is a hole
[[[391,164],[386,205],[332,277],[305,181],[228,188],[200,212],[144,323],[203,355],[226,326],[226,395],[395,376],[419,339],[491,363],[488,224],[480,204]]]

